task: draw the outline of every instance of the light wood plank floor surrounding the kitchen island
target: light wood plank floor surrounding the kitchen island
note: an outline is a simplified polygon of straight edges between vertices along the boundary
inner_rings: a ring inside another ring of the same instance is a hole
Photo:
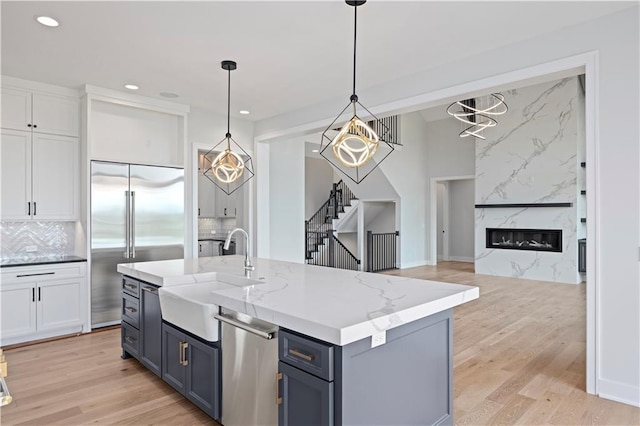
[[[640,409],[585,393],[585,286],[475,275],[473,264],[393,275],[471,284],[480,298],[455,309],[458,425],[640,425]],[[14,401],[5,425],[216,424],[133,359],[120,333],[8,349]]]

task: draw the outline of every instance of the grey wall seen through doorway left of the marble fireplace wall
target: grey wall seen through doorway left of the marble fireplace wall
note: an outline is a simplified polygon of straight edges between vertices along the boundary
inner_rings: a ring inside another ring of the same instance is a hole
[[[449,259],[473,262],[474,253],[473,179],[449,181]]]

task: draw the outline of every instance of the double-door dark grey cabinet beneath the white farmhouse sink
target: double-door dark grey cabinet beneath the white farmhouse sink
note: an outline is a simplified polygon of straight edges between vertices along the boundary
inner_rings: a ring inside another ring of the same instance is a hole
[[[162,324],[162,379],[214,419],[220,418],[220,349]]]

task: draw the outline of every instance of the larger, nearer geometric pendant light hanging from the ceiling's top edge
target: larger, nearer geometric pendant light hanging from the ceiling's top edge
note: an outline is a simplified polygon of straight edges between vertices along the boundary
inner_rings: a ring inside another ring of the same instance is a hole
[[[393,146],[387,142],[390,136],[389,128],[358,102],[358,95],[356,95],[358,6],[365,4],[366,0],[346,0],[346,3],[353,6],[354,10],[353,93],[349,98],[349,104],[322,133],[320,155],[355,183],[360,183],[391,154]],[[356,111],[358,105],[371,117],[368,122],[358,117]],[[353,109],[353,116],[341,129],[336,129],[335,123],[346,119],[343,115],[349,107]]]

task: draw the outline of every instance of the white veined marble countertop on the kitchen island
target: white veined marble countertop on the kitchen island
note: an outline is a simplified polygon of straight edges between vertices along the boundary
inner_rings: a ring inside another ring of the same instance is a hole
[[[244,256],[127,263],[118,272],[159,286],[243,275]],[[208,292],[212,303],[347,345],[479,297],[477,287],[252,258],[261,284]]]

